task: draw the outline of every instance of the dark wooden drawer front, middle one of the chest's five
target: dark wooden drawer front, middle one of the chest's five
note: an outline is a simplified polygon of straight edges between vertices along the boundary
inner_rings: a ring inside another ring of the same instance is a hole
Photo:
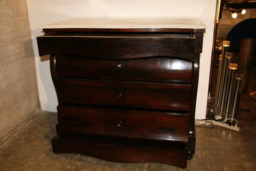
[[[59,104],[189,111],[190,84],[57,79]]]

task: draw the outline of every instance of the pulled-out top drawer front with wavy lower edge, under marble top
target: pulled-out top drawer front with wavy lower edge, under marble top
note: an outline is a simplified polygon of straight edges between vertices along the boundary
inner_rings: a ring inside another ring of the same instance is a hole
[[[195,37],[54,36],[37,37],[39,55],[73,54],[98,59],[172,56],[194,60]]]

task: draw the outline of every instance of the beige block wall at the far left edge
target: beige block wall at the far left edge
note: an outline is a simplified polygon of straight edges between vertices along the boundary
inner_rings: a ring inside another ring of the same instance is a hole
[[[40,110],[26,0],[1,0],[0,145]]]

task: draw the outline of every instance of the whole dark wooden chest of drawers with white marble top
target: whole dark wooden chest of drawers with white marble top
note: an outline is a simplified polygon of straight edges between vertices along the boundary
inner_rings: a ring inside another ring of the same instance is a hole
[[[185,168],[195,151],[205,27],[198,20],[200,27],[183,20],[178,28],[173,19],[133,19],[118,27],[122,20],[78,21],[46,26],[37,37],[39,55],[51,55],[59,102],[53,152]],[[169,27],[160,27],[164,22]]]

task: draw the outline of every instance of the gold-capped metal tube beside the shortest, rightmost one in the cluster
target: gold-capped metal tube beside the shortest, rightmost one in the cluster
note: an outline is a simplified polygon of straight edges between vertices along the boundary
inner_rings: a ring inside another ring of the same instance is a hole
[[[234,71],[237,70],[237,64],[236,63],[230,63],[229,64],[230,69],[230,82],[229,82],[229,91],[227,96],[227,107],[226,107],[226,119],[230,118],[230,107],[232,106],[232,101],[234,98],[234,95],[232,95],[233,92],[233,82],[234,82]]]

